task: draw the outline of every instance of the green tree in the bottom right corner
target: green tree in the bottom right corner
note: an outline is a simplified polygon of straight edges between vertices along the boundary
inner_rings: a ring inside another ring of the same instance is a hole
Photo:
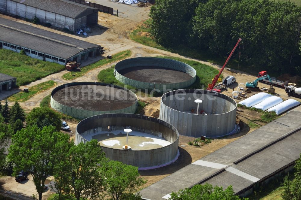
[[[300,200],[301,199],[301,154],[300,158],[295,163],[295,178],[288,180],[288,176],[284,178],[284,192],[281,197],[284,200]]]

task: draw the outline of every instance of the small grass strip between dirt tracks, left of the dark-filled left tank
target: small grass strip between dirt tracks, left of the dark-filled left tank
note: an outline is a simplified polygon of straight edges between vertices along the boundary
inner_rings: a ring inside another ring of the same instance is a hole
[[[32,86],[30,88],[28,88],[29,92],[18,92],[17,94],[12,95],[11,97],[8,98],[9,101],[11,102],[25,102],[27,101],[29,98],[31,98],[32,96],[44,92],[45,90],[55,86],[57,83],[54,82],[53,80],[48,80],[46,82],[37,84],[35,86]]]

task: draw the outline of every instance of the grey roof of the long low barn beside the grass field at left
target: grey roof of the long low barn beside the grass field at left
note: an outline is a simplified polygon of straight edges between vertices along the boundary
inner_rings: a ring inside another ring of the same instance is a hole
[[[67,59],[82,50],[100,47],[76,38],[39,29],[0,17],[0,40]]]

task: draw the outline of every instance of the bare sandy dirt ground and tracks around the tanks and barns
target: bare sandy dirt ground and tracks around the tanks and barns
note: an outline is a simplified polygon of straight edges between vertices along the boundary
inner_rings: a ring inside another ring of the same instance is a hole
[[[93,2],[93,1],[91,1],[91,2]],[[100,3],[99,1],[96,1],[96,0],[94,2]],[[106,13],[99,13],[98,25],[91,27],[93,32],[91,34],[88,34],[88,36],[71,35],[71,34],[62,32],[61,30],[52,29],[52,28],[48,28],[48,27],[44,27],[44,26],[40,26],[40,25],[35,25],[35,24],[31,24],[31,25],[37,26],[41,29],[46,29],[51,32],[56,32],[56,33],[59,33],[62,35],[67,35],[67,36],[77,38],[80,40],[99,44],[104,47],[104,50],[105,50],[104,56],[107,56],[109,54],[112,55],[114,53],[129,49],[132,51],[131,57],[174,56],[174,57],[180,57],[180,58],[184,58],[184,59],[191,59],[191,58],[187,58],[187,57],[175,54],[175,53],[170,53],[168,51],[159,50],[159,49],[155,49],[153,47],[148,47],[148,46],[136,43],[128,37],[129,32],[134,30],[135,27],[139,23],[141,23],[141,21],[146,20],[148,18],[150,7],[138,7],[138,6],[133,6],[133,5],[119,5],[115,2],[110,2],[110,1],[107,1],[107,3],[109,3],[109,5],[107,5],[107,6],[110,6],[113,8],[119,6],[118,7],[119,17],[117,17],[115,15],[106,14]],[[115,10],[114,10],[114,12],[115,12]],[[10,16],[2,15],[2,14],[0,14],[0,17],[5,17],[5,18],[11,19],[11,20],[20,21],[22,23],[28,24],[28,22],[26,22],[22,19],[17,19],[17,18],[13,18]],[[210,65],[213,68],[217,68],[217,69],[221,68],[221,66],[213,64],[213,63],[204,62],[204,61],[197,60],[197,59],[191,59],[191,60],[195,60],[195,61],[201,62],[203,64]],[[98,81],[98,79],[97,79],[98,73],[101,70],[109,68],[113,64],[116,64],[116,63],[104,65],[100,68],[93,69],[93,70],[89,71],[87,74],[85,74],[84,76],[76,78],[74,80],[64,80],[61,76],[64,75],[65,73],[67,73],[67,71],[61,71],[56,74],[51,74],[47,77],[42,78],[41,80],[37,80],[28,85],[21,86],[20,89],[23,90],[23,88],[34,86],[36,84],[45,82],[47,80],[54,80],[55,82],[57,82],[57,86],[64,84],[64,83],[70,83],[70,82]],[[265,69],[263,68],[262,70],[265,70]],[[245,83],[246,81],[253,81],[256,79],[256,76],[254,76],[254,75],[247,74],[243,71],[229,69],[229,68],[225,68],[222,75],[223,75],[223,77],[226,77],[228,75],[235,76],[237,83],[234,83],[234,87],[235,87],[234,89],[237,89],[237,86],[239,83]],[[269,85],[264,84],[264,83],[259,83],[259,87],[260,88],[262,88],[262,87],[268,88]],[[205,86],[205,88],[206,88],[206,86]],[[52,89],[53,88],[50,88],[47,91],[41,92],[41,93],[33,96],[26,102],[20,102],[20,105],[25,109],[26,112],[29,112],[34,107],[38,107],[40,102],[42,101],[42,99],[44,97],[46,97],[47,95],[49,95],[51,93]],[[222,91],[222,93],[225,95],[231,96],[232,86],[230,86],[230,89],[228,90],[228,92]],[[250,97],[251,95],[254,95],[256,93],[257,92],[251,92],[251,93],[246,93],[246,94],[247,94],[247,97]],[[275,87],[275,93],[276,93],[275,95],[280,96],[284,100],[289,99],[289,98],[299,100],[298,98],[288,97],[287,94],[285,93],[284,88]],[[140,100],[147,103],[146,107],[144,108],[144,110],[142,111],[141,114],[145,114],[147,116],[153,116],[153,117],[159,116],[160,97],[156,98],[156,97],[138,96],[138,98],[140,98]],[[245,98],[238,98],[235,101],[239,102],[242,99],[245,99]],[[1,103],[3,105],[4,101],[2,100]],[[14,102],[9,102],[9,104],[13,105]],[[194,138],[180,136],[180,140],[179,140],[180,156],[175,163],[168,165],[166,167],[163,167],[163,168],[147,170],[147,171],[140,171],[141,176],[147,180],[147,183],[145,186],[149,186],[149,185],[157,182],[158,180],[161,180],[162,178],[177,171],[178,169],[184,167],[185,165],[188,165],[191,162],[194,162],[197,159],[200,159],[203,156],[206,156],[207,154],[225,146],[226,144],[231,143],[232,141],[237,140],[238,138],[242,137],[243,135],[248,134],[248,133],[252,132],[254,129],[259,128],[260,126],[264,125],[262,122],[257,121],[257,120],[259,120],[258,112],[249,111],[249,110],[243,109],[243,108],[239,108],[239,109],[243,110],[244,112],[237,112],[238,122],[240,121],[240,125],[242,128],[238,134],[224,137],[224,138],[214,139],[210,144],[203,145],[202,147],[189,146],[188,141],[193,141]],[[299,106],[295,109],[300,111],[301,107]],[[253,129],[251,129],[248,126],[249,123],[252,121],[253,121],[253,123],[255,123],[257,125]],[[70,126],[70,132],[65,132],[65,133],[69,134],[71,138],[74,138],[76,123],[69,122],[68,120],[67,120],[67,123]],[[3,178],[3,177],[0,179],[0,182],[2,183],[2,187],[5,186],[5,184],[3,184],[3,181],[5,181],[5,180],[9,180],[9,179]],[[20,183],[16,183],[16,184],[20,184]],[[7,186],[4,189],[7,191],[16,192],[17,194],[23,193],[22,190],[16,189],[16,188],[18,188],[17,186],[14,185],[12,187],[13,188],[11,188],[10,186]],[[45,197],[43,196],[43,199],[46,199],[46,196]]]

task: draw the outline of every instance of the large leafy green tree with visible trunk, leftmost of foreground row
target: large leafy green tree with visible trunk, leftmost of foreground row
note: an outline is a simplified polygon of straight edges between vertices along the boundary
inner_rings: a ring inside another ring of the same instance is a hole
[[[42,199],[47,176],[53,174],[54,166],[61,162],[62,154],[67,157],[68,147],[72,144],[69,139],[68,135],[56,132],[54,126],[45,126],[43,129],[29,126],[12,137],[8,158],[15,163],[13,175],[20,170],[29,171],[39,200]]]

